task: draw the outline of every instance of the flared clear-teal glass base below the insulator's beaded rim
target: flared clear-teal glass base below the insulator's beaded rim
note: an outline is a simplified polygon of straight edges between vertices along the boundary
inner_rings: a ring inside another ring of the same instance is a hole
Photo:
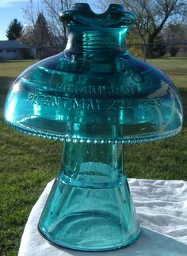
[[[123,145],[66,142],[62,168],[40,217],[49,241],[77,250],[113,250],[139,236],[124,173]]]

